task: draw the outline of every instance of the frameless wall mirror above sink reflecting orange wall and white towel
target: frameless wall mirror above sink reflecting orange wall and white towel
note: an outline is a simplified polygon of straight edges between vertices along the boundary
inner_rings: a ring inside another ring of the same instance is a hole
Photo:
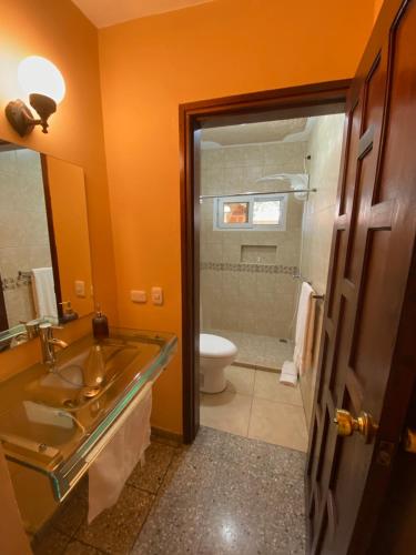
[[[0,141],[0,345],[93,311],[82,168]]]

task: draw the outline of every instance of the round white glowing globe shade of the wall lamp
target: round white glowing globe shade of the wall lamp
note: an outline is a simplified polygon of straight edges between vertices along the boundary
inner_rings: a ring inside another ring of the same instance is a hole
[[[29,94],[43,94],[57,104],[65,95],[65,82],[59,69],[45,58],[29,56],[19,63],[20,87]]]

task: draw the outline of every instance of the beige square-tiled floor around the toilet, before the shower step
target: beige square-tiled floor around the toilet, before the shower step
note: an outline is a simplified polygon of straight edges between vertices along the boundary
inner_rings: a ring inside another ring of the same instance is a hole
[[[225,369],[223,393],[201,394],[201,424],[298,451],[307,450],[300,387],[278,374],[240,366]]]

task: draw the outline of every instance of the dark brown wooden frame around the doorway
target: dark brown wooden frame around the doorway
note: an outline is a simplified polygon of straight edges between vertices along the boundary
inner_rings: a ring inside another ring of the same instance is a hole
[[[275,89],[180,104],[183,441],[200,427],[199,196],[200,130],[345,112],[351,80]]]

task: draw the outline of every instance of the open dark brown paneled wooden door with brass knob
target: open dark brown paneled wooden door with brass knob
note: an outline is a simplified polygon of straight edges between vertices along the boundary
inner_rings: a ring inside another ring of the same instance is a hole
[[[386,0],[353,81],[306,467],[308,551],[369,553],[415,379],[416,0]],[[412,346],[413,352],[414,347]],[[378,425],[339,436],[336,408]]]

